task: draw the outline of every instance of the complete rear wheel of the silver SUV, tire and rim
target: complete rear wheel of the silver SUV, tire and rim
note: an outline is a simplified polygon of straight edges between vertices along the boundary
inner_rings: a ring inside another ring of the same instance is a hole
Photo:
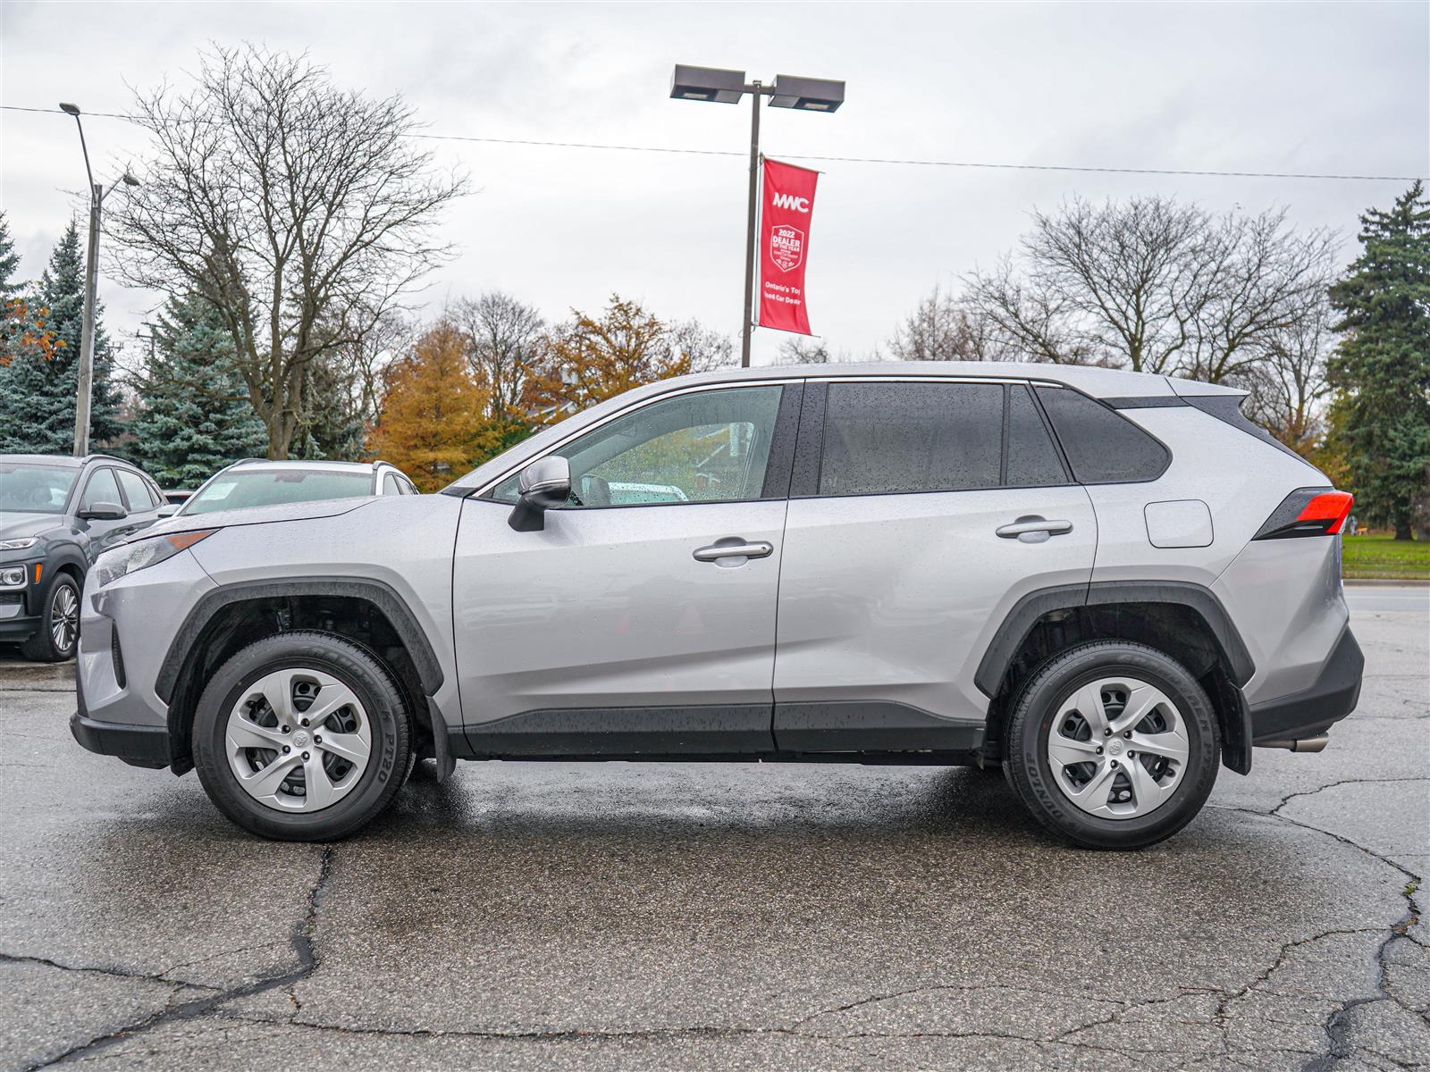
[[[1221,756],[1205,690],[1175,659],[1123,640],[1044,663],[1018,693],[1007,739],[1004,769],[1024,805],[1088,849],[1177,833],[1205,803]]]

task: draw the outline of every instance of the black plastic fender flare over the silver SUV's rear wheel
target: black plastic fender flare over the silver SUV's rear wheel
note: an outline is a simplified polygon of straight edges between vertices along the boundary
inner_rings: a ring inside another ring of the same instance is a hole
[[[1251,680],[1256,663],[1241,633],[1211,589],[1185,580],[1108,580],[1090,585],[1061,585],[1030,592],[1004,617],[988,649],[978,662],[974,685],[988,698],[998,693],[1008,666],[1040,617],[1054,610],[1113,603],[1178,603],[1190,607],[1216,637],[1230,667],[1231,683],[1238,689]]]

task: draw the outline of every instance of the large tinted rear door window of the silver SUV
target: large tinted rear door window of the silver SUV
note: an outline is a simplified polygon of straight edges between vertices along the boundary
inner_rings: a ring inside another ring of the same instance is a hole
[[[998,383],[831,383],[819,495],[998,487]]]

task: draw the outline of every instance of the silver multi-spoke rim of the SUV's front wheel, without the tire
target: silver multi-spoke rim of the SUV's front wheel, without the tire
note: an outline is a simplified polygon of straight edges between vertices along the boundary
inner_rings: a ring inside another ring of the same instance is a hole
[[[233,705],[225,752],[233,776],[259,803],[317,812],[362,779],[372,758],[372,725],[358,695],[330,673],[275,670]]]

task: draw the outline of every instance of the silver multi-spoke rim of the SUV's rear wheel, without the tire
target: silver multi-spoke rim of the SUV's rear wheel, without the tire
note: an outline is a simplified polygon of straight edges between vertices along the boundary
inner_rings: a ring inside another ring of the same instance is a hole
[[[1100,819],[1157,810],[1181,783],[1187,722],[1155,685],[1101,678],[1058,705],[1047,739],[1048,766],[1062,795]]]

